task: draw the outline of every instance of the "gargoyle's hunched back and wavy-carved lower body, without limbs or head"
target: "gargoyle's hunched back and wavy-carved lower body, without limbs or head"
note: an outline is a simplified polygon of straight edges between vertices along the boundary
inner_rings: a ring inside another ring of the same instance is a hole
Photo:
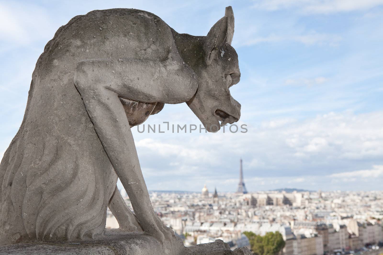
[[[91,11],[56,32],[36,63],[23,122],[1,162],[0,244],[103,231],[117,175],[74,86],[75,65],[162,61],[172,46],[164,21],[134,9]]]

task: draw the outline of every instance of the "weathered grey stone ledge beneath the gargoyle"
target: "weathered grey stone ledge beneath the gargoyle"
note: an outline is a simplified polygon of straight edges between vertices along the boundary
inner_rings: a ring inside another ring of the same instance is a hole
[[[175,248],[175,249],[174,249]],[[164,247],[152,236],[106,230],[103,237],[75,242],[31,242],[0,246],[5,254],[59,254],[59,255],[251,255],[246,247],[234,251],[222,240],[191,247]]]

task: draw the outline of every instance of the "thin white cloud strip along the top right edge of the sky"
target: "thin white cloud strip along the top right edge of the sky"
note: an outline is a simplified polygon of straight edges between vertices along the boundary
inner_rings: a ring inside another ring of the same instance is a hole
[[[268,11],[296,8],[304,13],[337,13],[368,10],[382,5],[382,0],[260,0],[255,8]]]

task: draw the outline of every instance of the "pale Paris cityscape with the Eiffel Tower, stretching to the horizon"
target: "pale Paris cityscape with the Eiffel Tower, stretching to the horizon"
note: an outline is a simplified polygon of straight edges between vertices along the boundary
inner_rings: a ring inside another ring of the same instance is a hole
[[[206,185],[201,192],[152,191],[153,208],[185,246],[221,239],[232,250],[251,249],[244,232],[279,232],[285,241],[281,255],[382,253],[383,191],[285,188],[252,193],[247,192],[242,171],[241,159],[237,192]],[[126,192],[120,192],[133,210]],[[118,228],[110,211],[106,228]]]

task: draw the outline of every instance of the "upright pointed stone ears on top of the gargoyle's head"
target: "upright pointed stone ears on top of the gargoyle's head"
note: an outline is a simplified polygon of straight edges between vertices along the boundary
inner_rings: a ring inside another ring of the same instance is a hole
[[[234,14],[231,6],[226,7],[225,16],[208,32],[203,50],[205,53],[205,62],[210,65],[211,60],[218,54],[218,51],[223,47],[224,43],[231,44],[234,34]]]

